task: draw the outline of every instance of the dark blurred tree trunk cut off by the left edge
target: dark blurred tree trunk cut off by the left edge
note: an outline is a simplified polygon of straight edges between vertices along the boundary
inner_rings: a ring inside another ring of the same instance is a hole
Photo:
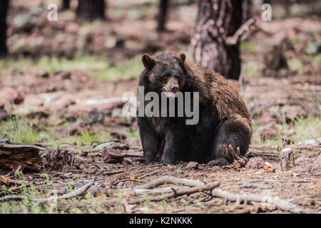
[[[6,15],[8,13],[9,0],[0,1],[0,56],[4,56],[8,49],[6,48]]]

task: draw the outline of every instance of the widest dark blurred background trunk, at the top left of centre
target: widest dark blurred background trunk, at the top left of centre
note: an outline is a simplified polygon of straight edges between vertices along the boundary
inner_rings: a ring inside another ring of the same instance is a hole
[[[76,19],[80,21],[93,21],[105,19],[104,0],[78,0]]]

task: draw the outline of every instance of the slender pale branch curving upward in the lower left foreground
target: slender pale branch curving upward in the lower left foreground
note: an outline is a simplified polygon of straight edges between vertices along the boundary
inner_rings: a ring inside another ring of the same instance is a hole
[[[56,200],[56,199],[70,199],[70,198],[73,198],[73,197],[83,194],[83,192],[86,192],[88,187],[90,187],[91,185],[93,185],[93,182],[88,182],[86,185],[83,185],[83,187],[79,187],[78,190],[74,190],[73,192],[67,193],[65,195],[61,195],[60,197],[54,196],[54,197],[39,199],[39,198],[29,198],[29,197],[20,196],[20,195],[9,195],[9,196],[5,196],[5,197],[0,197],[0,202],[1,201],[9,201],[9,200],[29,199],[31,201],[35,201],[35,202],[40,203],[40,202],[49,202],[51,200]]]

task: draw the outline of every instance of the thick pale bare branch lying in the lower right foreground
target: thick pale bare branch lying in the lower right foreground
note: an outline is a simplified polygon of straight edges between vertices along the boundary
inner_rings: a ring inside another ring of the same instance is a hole
[[[240,195],[233,194],[230,192],[225,192],[220,189],[214,189],[211,191],[211,194],[215,197],[223,197],[230,201],[244,202],[244,201],[255,201],[255,202],[268,202],[270,204],[274,204],[279,209],[283,211],[289,211],[292,213],[302,213],[307,212],[305,209],[297,207],[297,205],[288,202],[285,199],[279,199],[278,197],[269,197],[269,196],[260,196],[260,195]]]

